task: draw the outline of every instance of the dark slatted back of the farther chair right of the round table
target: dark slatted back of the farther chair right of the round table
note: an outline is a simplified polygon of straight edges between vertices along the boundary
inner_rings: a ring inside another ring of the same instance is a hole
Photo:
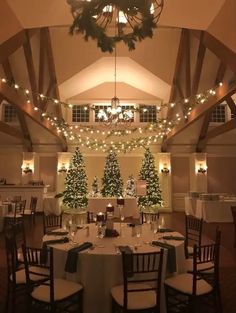
[[[185,215],[185,252],[188,257],[188,246],[197,244],[201,245],[202,242],[202,225],[203,219],[198,219],[191,215]]]

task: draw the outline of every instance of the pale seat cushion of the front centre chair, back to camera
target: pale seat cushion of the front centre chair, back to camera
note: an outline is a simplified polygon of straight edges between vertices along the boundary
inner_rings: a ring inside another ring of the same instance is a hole
[[[147,284],[130,283],[129,287],[132,289],[150,288]],[[118,285],[111,288],[112,298],[121,307],[124,306],[124,286]],[[128,293],[128,310],[142,310],[153,308],[156,306],[156,292],[150,291],[137,291]]]

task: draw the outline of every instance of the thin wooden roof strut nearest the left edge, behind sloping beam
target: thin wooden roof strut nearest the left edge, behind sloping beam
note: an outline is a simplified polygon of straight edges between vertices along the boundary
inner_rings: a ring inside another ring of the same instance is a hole
[[[11,69],[11,65],[10,65],[9,60],[6,59],[2,65],[3,65],[3,70],[4,70],[4,73],[7,77],[7,79],[14,83],[15,80],[13,77],[13,73],[12,73],[12,69]],[[25,148],[28,152],[32,152],[33,151],[33,144],[32,144],[32,140],[30,137],[29,128],[28,128],[28,125],[27,125],[26,120],[25,120],[24,113],[21,112],[21,110],[19,110],[19,108],[16,108],[16,113],[17,113],[17,116],[19,119],[21,130],[23,132],[23,145],[25,146]]]

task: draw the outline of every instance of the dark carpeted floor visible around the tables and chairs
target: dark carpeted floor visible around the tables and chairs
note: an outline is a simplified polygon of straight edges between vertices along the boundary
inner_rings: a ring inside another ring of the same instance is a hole
[[[185,220],[183,213],[162,214],[167,227],[176,229],[184,234]],[[233,248],[234,229],[231,223],[204,223],[204,240],[214,239],[216,226],[222,231],[221,259],[220,259],[220,285],[224,313],[236,312],[236,249]],[[36,217],[36,225],[26,225],[27,243],[40,247],[43,235],[42,216]],[[4,238],[0,234],[0,313],[5,313],[6,300],[6,260],[4,251]],[[25,312],[24,299],[19,299],[16,313]],[[102,312],[101,312],[102,313]],[[203,312],[201,312],[203,313]]]

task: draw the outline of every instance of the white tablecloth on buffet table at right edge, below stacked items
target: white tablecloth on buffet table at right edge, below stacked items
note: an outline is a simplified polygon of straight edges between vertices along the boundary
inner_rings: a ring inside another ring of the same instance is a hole
[[[236,201],[206,201],[197,200],[196,217],[203,218],[205,222],[233,222],[231,206],[236,206]]]

